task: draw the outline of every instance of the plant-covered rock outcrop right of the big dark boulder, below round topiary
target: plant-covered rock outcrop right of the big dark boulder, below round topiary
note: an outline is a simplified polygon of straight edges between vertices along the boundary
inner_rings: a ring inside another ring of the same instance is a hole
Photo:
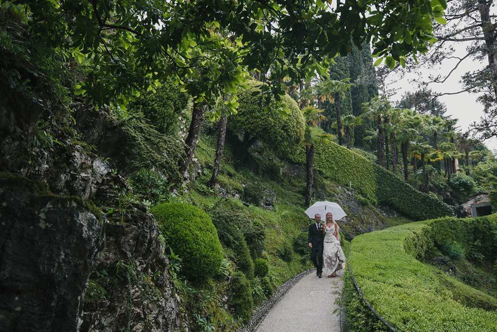
[[[107,224],[90,277],[101,292],[90,296],[87,290],[81,331],[172,332],[178,326],[179,304],[158,236],[157,222],[142,205]]]

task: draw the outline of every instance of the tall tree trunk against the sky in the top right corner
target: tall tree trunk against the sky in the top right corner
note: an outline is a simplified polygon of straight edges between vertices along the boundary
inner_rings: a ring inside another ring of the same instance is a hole
[[[492,1],[478,0],[478,11],[482,19],[483,38],[485,39],[485,53],[489,59],[490,81],[494,90],[494,98],[497,98],[497,43],[495,26],[490,16]]]

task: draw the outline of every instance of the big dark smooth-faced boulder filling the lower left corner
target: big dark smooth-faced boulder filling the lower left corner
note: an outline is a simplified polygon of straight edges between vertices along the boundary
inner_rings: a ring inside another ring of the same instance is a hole
[[[0,331],[78,331],[83,292],[104,239],[78,197],[0,173]]]

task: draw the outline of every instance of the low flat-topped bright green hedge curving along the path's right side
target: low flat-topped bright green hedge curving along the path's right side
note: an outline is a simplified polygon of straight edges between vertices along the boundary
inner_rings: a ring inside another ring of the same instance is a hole
[[[433,268],[414,258],[429,258],[433,249],[451,241],[475,249],[479,238],[476,250],[495,259],[496,219],[441,218],[362,234],[352,241],[348,264],[364,297],[398,331],[497,331],[495,311],[455,302]],[[348,300],[349,315],[362,315],[362,326],[378,323],[354,301]],[[361,326],[355,329],[363,331]]]

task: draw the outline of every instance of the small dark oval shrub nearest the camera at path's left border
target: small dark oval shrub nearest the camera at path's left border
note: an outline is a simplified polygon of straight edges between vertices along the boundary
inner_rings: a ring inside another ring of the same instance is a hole
[[[235,272],[230,282],[231,296],[228,307],[233,314],[244,323],[250,320],[252,314],[253,299],[250,283],[242,272]]]

